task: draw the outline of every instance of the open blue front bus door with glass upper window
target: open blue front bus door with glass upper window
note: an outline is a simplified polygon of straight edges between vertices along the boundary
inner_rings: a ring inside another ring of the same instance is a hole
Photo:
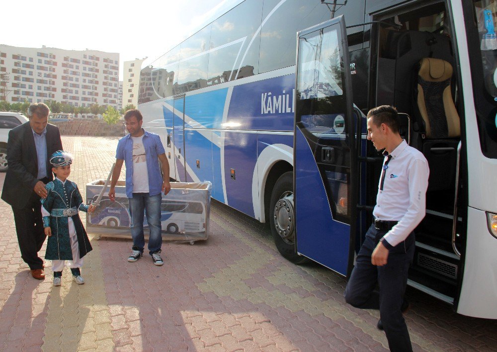
[[[297,37],[297,252],[347,275],[356,229],[357,157],[344,17]]]

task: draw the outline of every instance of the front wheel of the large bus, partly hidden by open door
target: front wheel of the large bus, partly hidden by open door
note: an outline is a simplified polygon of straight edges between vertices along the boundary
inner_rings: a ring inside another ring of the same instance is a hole
[[[308,261],[295,251],[295,208],[293,206],[293,175],[287,172],[281,175],[271,193],[270,224],[274,244],[279,253],[295,264]]]

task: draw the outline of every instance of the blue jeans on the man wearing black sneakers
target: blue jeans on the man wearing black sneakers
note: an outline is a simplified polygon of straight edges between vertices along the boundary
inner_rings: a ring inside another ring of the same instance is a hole
[[[129,210],[131,212],[131,237],[133,247],[143,253],[145,238],[143,236],[143,215],[147,216],[149,224],[149,253],[156,253],[162,246],[162,226],[161,226],[161,202],[162,193],[149,195],[149,193],[133,193],[133,198],[129,198]]]

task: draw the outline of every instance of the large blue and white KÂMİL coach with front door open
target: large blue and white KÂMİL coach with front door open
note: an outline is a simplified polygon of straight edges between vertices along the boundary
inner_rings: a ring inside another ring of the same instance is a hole
[[[496,12],[497,0],[245,0],[142,68],[143,126],[173,178],[210,180],[215,199],[270,223],[285,258],[347,276],[383,159],[364,113],[395,105],[431,171],[409,284],[496,319]]]

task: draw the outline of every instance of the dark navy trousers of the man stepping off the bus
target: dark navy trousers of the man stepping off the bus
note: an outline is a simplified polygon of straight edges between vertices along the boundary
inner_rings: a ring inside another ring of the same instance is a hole
[[[367,231],[345,288],[345,301],[357,308],[379,309],[390,350],[412,351],[401,307],[414,258],[414,233],[389,251],[386,265],[376,266],[371,264],[371,255],[385,234],[386,231],[376,230],[374,225]]]

